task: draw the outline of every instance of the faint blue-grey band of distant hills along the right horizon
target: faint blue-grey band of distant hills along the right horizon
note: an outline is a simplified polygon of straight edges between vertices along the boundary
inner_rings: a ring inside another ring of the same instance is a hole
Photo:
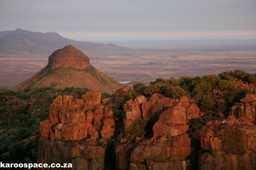
[[[202,39],[202,40],[144,40],[111,42],[127,48],[194,50],[194,51],[247,51],[256,50],[256,39]]]

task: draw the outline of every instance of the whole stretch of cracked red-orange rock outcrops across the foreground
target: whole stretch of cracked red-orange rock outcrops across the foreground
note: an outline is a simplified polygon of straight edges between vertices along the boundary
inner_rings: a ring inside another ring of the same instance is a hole
[[[109,155],[99,144],[110,139],[115,145],[109,169],[256,169],[256,94],[247,93],[225,118],[200,111],[187,96],[171,99],[154,93],[127,100],[130,90],[125,86],[102,102],[98,91],[87,92],[84,99],[58,96],[49,119],[40,123],[37,162],[72,163],[73,170],[108,169],[104,160]],[[123,110],[119,117],[118,110]],[[152,123],[150,138],[118,134],[138,119]]]

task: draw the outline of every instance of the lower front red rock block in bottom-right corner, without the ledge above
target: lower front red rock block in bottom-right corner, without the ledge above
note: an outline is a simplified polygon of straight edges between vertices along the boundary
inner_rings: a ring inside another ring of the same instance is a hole
[[[234,116],[207,122],[199,133],[201,147],[207,151],[200,156],[200,170],[255,170],[256,126],[249,124],[243,118],[236,119]],[[236,132],[241,135],[236,139],[228,135]],[[222,138],[228,142],[223,144]],[[229,147],[233,149],[227,153],[225,148]]]

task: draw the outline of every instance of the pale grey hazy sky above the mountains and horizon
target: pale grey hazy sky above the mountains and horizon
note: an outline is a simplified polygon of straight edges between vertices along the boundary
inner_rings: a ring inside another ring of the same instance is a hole
[[[0,0],[0,31],[75,40],[256,38],[256,0]]]

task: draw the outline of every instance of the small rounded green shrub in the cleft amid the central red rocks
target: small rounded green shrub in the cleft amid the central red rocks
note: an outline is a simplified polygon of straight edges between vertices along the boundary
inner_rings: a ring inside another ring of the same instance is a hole
[[[125,137],[129,140],[134,140],[136,137],[141,137],[146,134],[147,121],[142,119],[137,119],[132,122],[131,126],[125,129]]]

